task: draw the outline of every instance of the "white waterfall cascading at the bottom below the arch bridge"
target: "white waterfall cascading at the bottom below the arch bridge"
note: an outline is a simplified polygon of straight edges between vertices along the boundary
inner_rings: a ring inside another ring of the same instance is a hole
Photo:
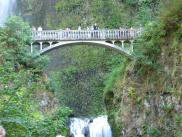
[[[70,137],[112,137],[107,116],[94,119],[70,119]]]

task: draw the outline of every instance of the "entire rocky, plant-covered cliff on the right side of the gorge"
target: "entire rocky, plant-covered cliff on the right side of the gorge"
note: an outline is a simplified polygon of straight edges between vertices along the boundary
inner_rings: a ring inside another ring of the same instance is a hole
[[[182,136],[182,2],[175,2],[146,28],[143,54],[105,97],[115,136]]]

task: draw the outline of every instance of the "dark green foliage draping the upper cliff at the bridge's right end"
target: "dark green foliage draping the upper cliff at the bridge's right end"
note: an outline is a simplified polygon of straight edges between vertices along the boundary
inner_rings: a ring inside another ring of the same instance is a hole
[[[175,0],[175,2],[167,4],[165,6],[170,7],[171,10],[163,8],[159,15],[160,20],[149,23],[145,27],[145,31],[136,45],[135,55],[138,57],[138,64],[145,66],[143,70],[139,69],[142,73],[147,70],[160,71],[161,65],[156,60],[160,56],[161,48],[168,45],[166,37],[170,38],[174,35],[173,32],[180,28],[182,2]]]

